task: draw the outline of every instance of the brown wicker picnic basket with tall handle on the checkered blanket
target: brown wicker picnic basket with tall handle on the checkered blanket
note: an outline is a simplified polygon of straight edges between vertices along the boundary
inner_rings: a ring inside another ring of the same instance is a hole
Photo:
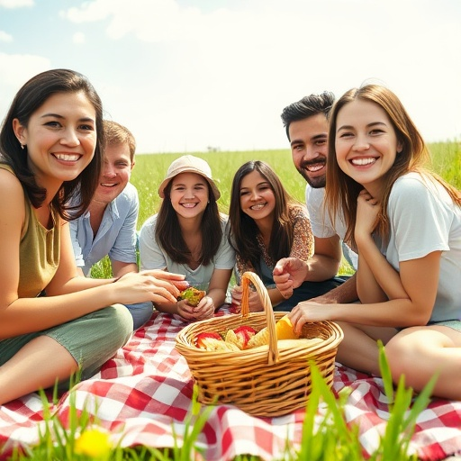
[[[249,282],[256,287],[264,312],[249,312]],[[176,335],[176,348],[185,357],[194,381],[198,384],[198,401],[205,404],[236,405],[240,410],[259,417],[281,416],[303,408],[311,392],[313,360],[327,384],[333,382],[335,357],[342,330],[331,321],[306,323],[302,338],[321,338],[311,348],[300,346],[278,348],[276,320],[286,312],[274,312],[266,287],[253,272],[242,276],[240,314],[214,317],[187,325]],[[194,337],[203,331],[224,334],[240,325],[255,330],[267,326],[268,349],[208,351],[194,346]],[[301,341],[300,341],[301,342]]]

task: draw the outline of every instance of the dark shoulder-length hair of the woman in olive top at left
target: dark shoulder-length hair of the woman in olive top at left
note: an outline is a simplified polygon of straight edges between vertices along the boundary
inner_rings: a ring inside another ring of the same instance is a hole
[[[1,160],[13,168],[35,208],[39,208],[47,191],[37,184],[27,163],[27,146],[22,149],[14,134],[13,121],[17,119],[24,127],[31,116],[51,95],[57,93],[84,93],[95,107],[96,147],[89,165],[72,181],[65,181],[52,199],[53,207],[66,221],[75,219],[86,211],[99,177],[104,156],[103,104],[88,79],[74,70],[53,69],[42,72],[27,81],[14,96],[0,133]]]

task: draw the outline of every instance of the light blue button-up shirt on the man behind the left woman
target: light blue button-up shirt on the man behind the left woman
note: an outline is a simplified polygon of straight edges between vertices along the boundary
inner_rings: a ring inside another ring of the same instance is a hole
[[[128,183],[104,211],[103,221],[96,235],[90,224],[90,212],[70,221],[70,236],[77,267],[88,276],[91,267],[109,256],[112,261],[136,263],[136,225],[140,200],[136,187]]]

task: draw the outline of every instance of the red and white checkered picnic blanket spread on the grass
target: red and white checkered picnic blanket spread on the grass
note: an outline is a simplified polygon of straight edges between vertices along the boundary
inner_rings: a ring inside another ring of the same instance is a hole
[[[193,381],[175,348],[176,333],[185,324],[166,314],[154,314],[131,341],[92,379],[77,384],[78,409],[86,408],[111,430],[122,447],[173,447],[173,428],[181,435],[191,407]],[[357,424],[364,452],[372,453],[384,432],[389,412],[382,380],[337,364],[333,389],[351,390],[346,405],[349,424]],[[96,410],[97,409],[97,410]],[[57,408],[66,418],[68,393]],[[265,460],[283,457],[286,440],[299,446],[303,410],[279,418],[252,417],[238,408],[212,409],[197,446],[207,461],[230,460],[250,454]],[[0,407],[0,447],[3,459],[14,445],[38,440],[42,405],[37,393]],[[438,460],[461,452],[461,402],[434,399],[422,411],[411,440],[411,450],[424,460]]]

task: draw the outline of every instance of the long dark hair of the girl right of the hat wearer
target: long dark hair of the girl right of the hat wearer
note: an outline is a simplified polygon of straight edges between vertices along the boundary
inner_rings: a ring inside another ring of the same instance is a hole
[[[253,171],[263,176],[276,198],[274,224],[270,236],[268,254],[274,261],[290,255],[294,240],[294,224],[290,219],[289,204],[294,199],[286,192],[274,170],[261,160],[244,163],[235,173],[230,190],[230,245],[243,261],[249,261],[255,269],[259,267],[261,249],[258,247],[258,226],[240,207],[240,186],[243,178]]]

